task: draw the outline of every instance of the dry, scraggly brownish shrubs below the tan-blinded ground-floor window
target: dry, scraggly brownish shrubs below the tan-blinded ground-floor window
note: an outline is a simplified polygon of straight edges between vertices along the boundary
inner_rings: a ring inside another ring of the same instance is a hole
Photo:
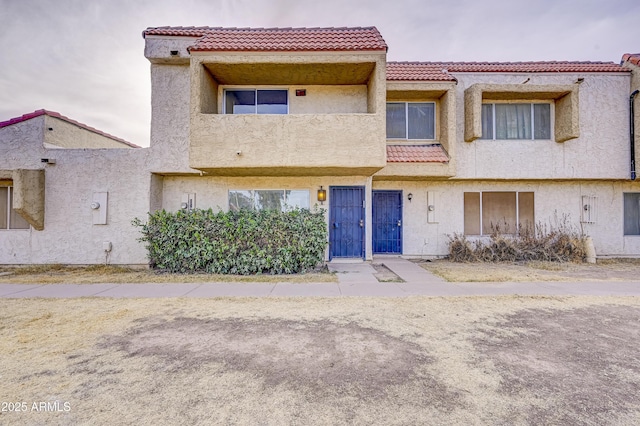
[[[535,228],[521,228],[515,234],[492,226],[490,237],[474,241],[453,234],[449,236],[449,258],[454,262],[584,261],[585,235],[569,224],[567,216],[556,223],[538,223]]]

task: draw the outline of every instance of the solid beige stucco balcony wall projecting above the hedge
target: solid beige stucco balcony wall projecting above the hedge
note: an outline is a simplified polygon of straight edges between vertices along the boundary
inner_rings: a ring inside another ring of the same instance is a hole
[[[386,164],[382,114],[196,114],[189,165],[218,176],[370,176]]]

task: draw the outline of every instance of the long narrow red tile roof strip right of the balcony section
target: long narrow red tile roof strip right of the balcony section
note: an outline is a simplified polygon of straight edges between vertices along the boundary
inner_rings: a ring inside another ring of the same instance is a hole
[[[455,81],[456,72],[629,72],[613,62],[388,62],[387,80]]]

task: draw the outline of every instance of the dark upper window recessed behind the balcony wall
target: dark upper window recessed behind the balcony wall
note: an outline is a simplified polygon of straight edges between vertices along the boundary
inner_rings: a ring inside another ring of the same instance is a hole
[[[225,114],[287,114],[287,90],[233,89],[224,91]]]

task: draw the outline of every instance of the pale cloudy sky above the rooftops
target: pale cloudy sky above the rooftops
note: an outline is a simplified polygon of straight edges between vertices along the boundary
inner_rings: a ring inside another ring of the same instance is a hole
[[[619,62],[638,18],[637,0],[0,0],[0,121],[45,108],[148,146],[147,27],[376,26],[392,61]]]

